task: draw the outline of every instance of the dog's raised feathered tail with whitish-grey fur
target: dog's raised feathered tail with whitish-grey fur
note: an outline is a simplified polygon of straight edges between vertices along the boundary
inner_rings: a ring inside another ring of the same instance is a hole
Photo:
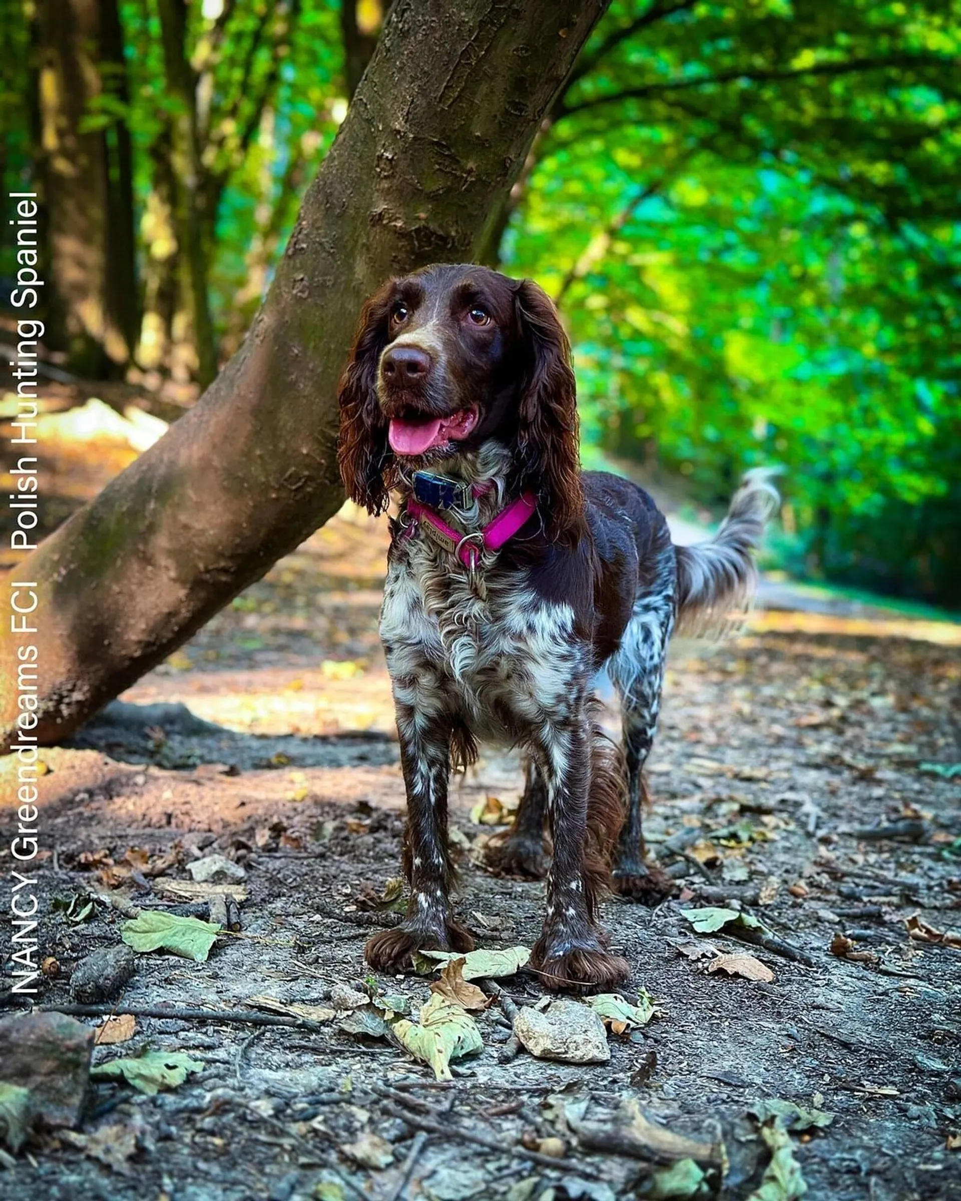
[[[751,609],[758,580],[753,551],[781,504],[775,474],[770,467],[748,471],[714,538],[675,546],[679,634],[720,637]]]

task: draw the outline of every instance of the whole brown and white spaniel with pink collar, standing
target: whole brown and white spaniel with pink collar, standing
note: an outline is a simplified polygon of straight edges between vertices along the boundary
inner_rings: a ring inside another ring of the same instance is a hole
[[[777,504],[745,478],[717,536],[675,546],[645,491],[581,472],[574,374],[554,305],[530,280],[430,267],[364,306],[340,389],[347,492],[392,521],[381,638],[396,706],[407,827],[405,920],[375,934],[370,964],[418,949],[468,951],[450,908],[450,769],[478,740],[520,747],[527,778],[493,854],[544,873],[530,966],[551,988],[609,988],[629,974],[605,949],[605,885],[639,900],[670,882],[644,861],[641,769],[675,623],[714,625],[750,599],[752,549]],[[622,753],[599,729],[592,686],[621,698]]]

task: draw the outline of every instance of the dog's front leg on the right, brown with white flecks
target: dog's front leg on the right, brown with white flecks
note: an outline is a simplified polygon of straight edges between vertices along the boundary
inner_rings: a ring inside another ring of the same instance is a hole
[[[548,725],[533,748],[547,785],[554,859],[531,967],[548,988],[569,992],[603,991],[629,975],[626,960],[604,949],[596,918],[598,870],[587,860],[595,841],[589,820],[599,817],[592,811],[603,805],[607,784],[592,753],[596,736],[581,701],[569,721]]]

